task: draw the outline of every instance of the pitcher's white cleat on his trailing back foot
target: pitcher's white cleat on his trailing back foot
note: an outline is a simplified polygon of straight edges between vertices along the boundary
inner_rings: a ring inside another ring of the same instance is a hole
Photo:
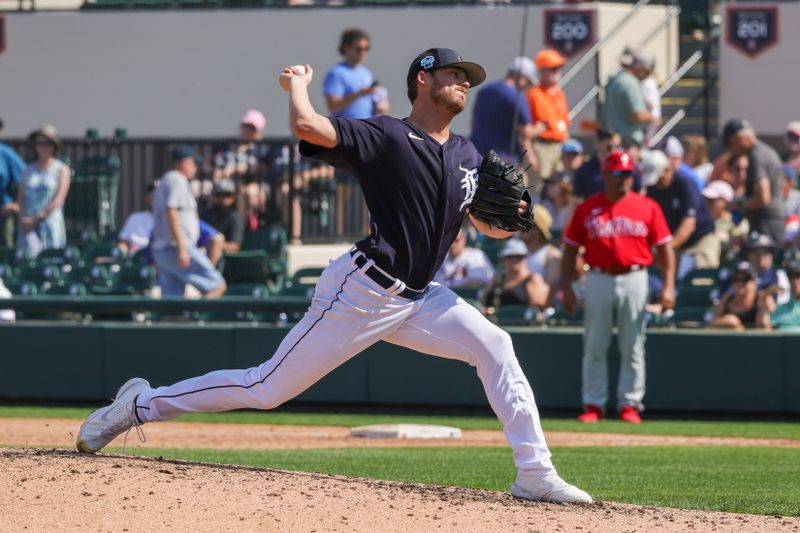
[[[142,378],[125,382],[111,405],[101,407],[86,418],[78,432],[78,451],[94,453],[132,427],[138,430],[140,424],[134,413],[134,400],[149,388],[150,383]]]

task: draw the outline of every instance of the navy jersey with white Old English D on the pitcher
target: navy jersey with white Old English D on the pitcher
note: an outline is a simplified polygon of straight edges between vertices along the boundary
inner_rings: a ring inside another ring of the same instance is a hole
[[[439,144],[408,122],[380,116],[332,117],[330,150],[305,141],[300,153],[354,174],[370,213],[370,234],[356,247],[413,289],[430,283],[472,202],[481,155],[450,134]]]

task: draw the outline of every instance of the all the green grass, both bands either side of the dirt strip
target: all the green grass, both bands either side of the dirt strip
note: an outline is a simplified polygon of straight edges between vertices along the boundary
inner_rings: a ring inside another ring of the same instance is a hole
[[[90,411],[91,408],[86,407],[0,406],[0,417],[80,419]],[[500,429],[497,420],[488,416],[242,411],[187,415],[178,420],[335,426],[411,422],[454,425],[463,429]],[[647,420],[635,426],[617,421],[585,425],[573,419],[546,418],[543,425],[546,431],[800,439],[800,424],[790,422]],[[507,490],[514,475],[511,450],[505,447],[129,449],[128,453],[489,490]],[[559,472],[567,480],[600,500],[800,516],[798,448],[565,447],[554,449],[553,455]]]

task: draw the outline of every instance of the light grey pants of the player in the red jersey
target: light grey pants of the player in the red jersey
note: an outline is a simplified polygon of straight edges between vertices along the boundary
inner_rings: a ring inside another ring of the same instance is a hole
[[[605,409],[608,401],[608,347],[617,326],[620,364],[617,407],[642,409],[645,386],[644,306],[647,270],[610,276],[595,270],[586,278],[583,325],[583,404]],[[615,320],[616,319],[616,320]]]

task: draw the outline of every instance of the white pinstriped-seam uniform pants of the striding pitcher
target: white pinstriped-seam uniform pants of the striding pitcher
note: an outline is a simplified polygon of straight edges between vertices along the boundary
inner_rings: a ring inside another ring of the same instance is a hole
[[[358,269],[349,254],[325,269],[308,312],[269,361],[142,392],[136,413],[142,422],[152,422],[182,413],[272,409],[379,340],[476,367],[517,467],[555,471],[533,391],[508,333],[435,283],[419,300],[392,296]]]

